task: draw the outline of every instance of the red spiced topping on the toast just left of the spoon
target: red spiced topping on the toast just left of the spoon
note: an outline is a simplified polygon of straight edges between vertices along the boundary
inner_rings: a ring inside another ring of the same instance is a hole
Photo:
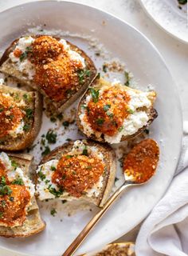
[[[58,162],[52,181],[72,196],[80,198],[84,191],[99,182],[103,173],[104,163],[99,158],[65,155]]]

